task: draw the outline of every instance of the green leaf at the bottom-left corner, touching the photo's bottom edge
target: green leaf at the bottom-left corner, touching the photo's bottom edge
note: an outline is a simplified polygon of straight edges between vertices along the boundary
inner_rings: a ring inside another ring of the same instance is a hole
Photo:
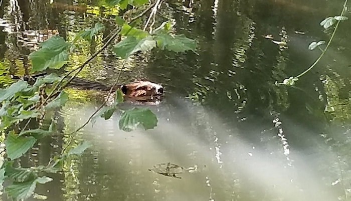
[[[44,184],[51,180],[52,178],[43,176],[27,182],[14,182],[13,184],[7,186],[5,190],[13,199],[17,201],[21,199],[25,200],[32,196],[37,183]]]

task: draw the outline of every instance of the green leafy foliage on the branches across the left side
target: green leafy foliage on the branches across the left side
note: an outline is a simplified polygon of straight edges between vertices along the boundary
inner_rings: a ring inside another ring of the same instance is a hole
[[[141,8],[139,10],[144,11],[145,8],[141,6],[146,3],[148,3],[147,0],[104,0],[101,4],[115,9],[125,9],[131,5],[134,10]],[[196,42],[184,35],[174,34],[172,26],[168,22],[162,23],[150,33],[133,27],[135,24],[131,24],[121,17],[116,17],[115,22],[117,27],[121,27],[116,34],[123,40],[117,42],[112,51],[122,59],[128,59],[137,52],[149,52],[154,48],[177,53],[196,50]],[[97,22],[93,28],[78,32],[72,42],[67,42],[58,35],[49,38],[40,44],[39,50],[29,55],[32,64],[31,72],[66,67],[71,53],[79,50],[78,39],[93,41],[95,36],[104,29],[104,25]],[[107,47],[108,44],[105,45],[104,47]],[[88,62],[89,60],[86,63]],[[52,73],[36,77],[34,84],[19,80],[6,89],[0,89],[0,129],[6,136],[7,156],[0,164],[0,184],[5,180],[9,181],[5,191],[15,200],[27,199],[34,195],[37,184],[44,184],[52,180],[50,177],[44,176],[46,173],[56,173],[68,157],[82,154],[91,146],[88,142],[82,142],[80,145],[72,147],[71,142],[69,142],[67,147],[70,149],[62,150],[62,153],[51,158],[47,165],[29,168],[22,167],[21,161],[14,163],[15,160],[29,152],[40,139],[58,132],[55,129],[57,122],[53,111],[60,110],[70,98],[69,94],[62,90],[66,83],[65,77]],[[146,130],[157,125],[156,115],[148,108],[133,108],[122,111],[119,104],[123,102],[124,94],[120,89],[115,94],[114,103],[97,111],[91,118],[92,123],[98,117],[107,120],[114,112],[120,112],[119,127],[123,131],[129,132],[138,127]],[[15,166],[15,164],[20,166]]]

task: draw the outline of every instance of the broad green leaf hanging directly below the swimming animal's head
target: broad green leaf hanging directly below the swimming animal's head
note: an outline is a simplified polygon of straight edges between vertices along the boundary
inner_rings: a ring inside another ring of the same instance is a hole
[[[130,132],[139,126],[145,130],[154,128],[157,125],[157,118],[148,108],[133,108],[122,113],[119,120],[119,129]]]

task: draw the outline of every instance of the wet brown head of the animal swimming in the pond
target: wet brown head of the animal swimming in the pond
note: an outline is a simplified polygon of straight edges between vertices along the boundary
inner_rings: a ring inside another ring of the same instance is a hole
[[[120,89],[125,98],[137,101],[160,99],[160,96],[163,95],[163,87],[149,81],[137,81],[121,85]]]

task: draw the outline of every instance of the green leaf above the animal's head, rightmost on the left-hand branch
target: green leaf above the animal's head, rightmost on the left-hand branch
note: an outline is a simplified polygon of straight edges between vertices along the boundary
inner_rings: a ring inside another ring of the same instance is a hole
[[[157,47],[161,50],[167,49],[174,52],[185,52],[188,50],[196,50],[197,43],[193,39],[189,39],[184,35],[171,36],[169,34],[157,34],[154,36]]]

